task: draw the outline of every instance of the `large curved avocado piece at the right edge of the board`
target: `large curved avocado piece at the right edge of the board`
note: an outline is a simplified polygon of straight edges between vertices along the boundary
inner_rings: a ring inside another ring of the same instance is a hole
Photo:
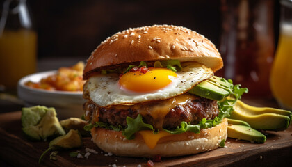
[[[248,122],[254,129],[279,131],[289,127],[291,112],[268,107],[249,106],[238,100],[229,118]]]

